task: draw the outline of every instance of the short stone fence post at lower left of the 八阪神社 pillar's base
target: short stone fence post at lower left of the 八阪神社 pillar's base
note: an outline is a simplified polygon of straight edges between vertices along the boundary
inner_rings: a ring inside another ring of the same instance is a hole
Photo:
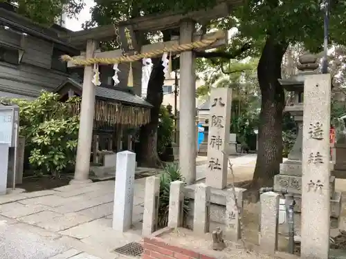
[[[209,224],[210,186],[206,184],[196,184],[196,188],[194,189],[194,233],[208,233]]]

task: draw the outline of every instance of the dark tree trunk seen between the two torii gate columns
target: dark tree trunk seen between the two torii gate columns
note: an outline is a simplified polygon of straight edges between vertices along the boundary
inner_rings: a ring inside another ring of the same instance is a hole
[[[152,104],[150,122],[140,128],[140,144],[138,163],[141,166],[158,167],[161,160],[157,153],[158,115],[163,101],[163,81],[165,80],[161,58],[152,59],[153,68],[150,73],[147,102]]]

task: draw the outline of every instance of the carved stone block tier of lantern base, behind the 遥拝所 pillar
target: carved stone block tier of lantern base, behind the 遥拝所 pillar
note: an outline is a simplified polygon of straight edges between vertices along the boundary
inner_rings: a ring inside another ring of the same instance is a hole
[[[275,175],[274,189],[287,189],[289,193],[302,194],[302,177],[298,175]],[[333,198],[335,191],[335,176],[329,178],[330,198]]]

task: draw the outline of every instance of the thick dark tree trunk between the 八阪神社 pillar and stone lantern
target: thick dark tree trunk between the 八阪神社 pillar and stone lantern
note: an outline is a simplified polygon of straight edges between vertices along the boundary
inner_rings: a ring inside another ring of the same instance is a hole
[[[273,186],[273,177],[282,162],[282,111],[284,89],[281,78],[281,62],[288,44],[277,43],[268,36],[257,66],[262,105],[258,131],[258,151],[252,186]]]

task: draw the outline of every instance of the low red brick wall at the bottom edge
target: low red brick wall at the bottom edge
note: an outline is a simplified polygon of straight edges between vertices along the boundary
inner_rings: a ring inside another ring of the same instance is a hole
[[[217,259],[216,257],[206,256],[194,250],[183,247],[177,247],[169,244],[161,238],[144,238],[143,240],[144,253],[143,259]]]

